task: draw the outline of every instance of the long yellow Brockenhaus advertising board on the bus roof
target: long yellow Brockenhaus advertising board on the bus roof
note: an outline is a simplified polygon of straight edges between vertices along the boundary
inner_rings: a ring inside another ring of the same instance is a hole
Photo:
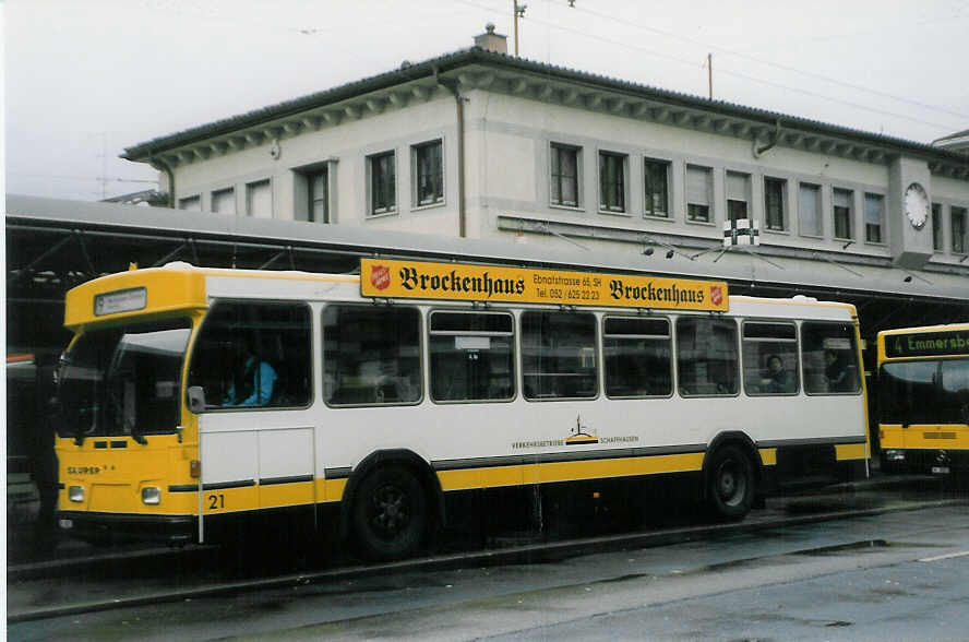
[[[722,281],[379,259],[360,260],[360,294],[719,312],[729,309]]]

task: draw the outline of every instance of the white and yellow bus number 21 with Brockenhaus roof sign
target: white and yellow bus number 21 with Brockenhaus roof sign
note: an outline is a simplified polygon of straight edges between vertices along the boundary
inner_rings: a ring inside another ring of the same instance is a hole
[[[674,477],[742,519],[778,487],[868,474],[845,304],[452,263],[174,263],[72,289],[65,324],[60,523],[83,537],[203,542],[300,514],[386,559],[462,491]]]

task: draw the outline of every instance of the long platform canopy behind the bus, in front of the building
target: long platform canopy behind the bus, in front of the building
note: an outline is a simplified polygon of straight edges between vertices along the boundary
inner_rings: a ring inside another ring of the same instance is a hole
[[[887,328],[969,319],[969,280],[962,275],[763,255],[756,248],[696,258],[673,252],[670,259],[617,259],[569,243],[552,250],[547,243],[19,195],[7,198],[5,224],[8,347],[62,343],[63,295],[74,285],[132,263],[148,268],[169,261],[351,273],[360,258],[376,257],[710,278],[728,282],[731,294],[801,294],[852,302],[869,337]]]

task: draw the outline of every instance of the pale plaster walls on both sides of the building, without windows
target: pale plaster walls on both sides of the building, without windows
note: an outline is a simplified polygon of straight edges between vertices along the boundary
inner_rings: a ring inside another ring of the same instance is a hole
[[[845,251],[846,253],[889,257],[887,243],[865,243],[863,238],[864,194],[882,194],[888,203],[887,164],[862,163],[776,146],[759,159],[754,158],[751,142],[710,132],[683,129],[674,124],[625,118],[590,111],[584,107],[552,105],[484,90],[464,92],[465,103],[465,190],[467,235],[472,238],[506,238],[499,231],[498,216],[516,215],[542,221],[581,223],[587,226],[621,228],[647,234],[669,234],[684,238],[715,241],[722,236],[726,218],[727,171],[750,175],[750,213],[761,222],[762,243],[805,250]],[[430,207],[411,206],[410,146],[442,139],[444,145],[444,203]],[[549,144],[566,143],[582,148],[579,191],[576,209],[555,207],[549,199]],[[273,216],[294,218],[295,169],[332,159],[333,221],[340,225],[408,230],[444,236],[458,234],[457,127],[454,97],[440,88],[429,99],[410,98],[404,109],[387,107],[381,114],[352,120],[338,127],[323,127],[280,141],[282,155],[273,159],[268,142],[206,160],[196,160],[176,169],[179,198],[201,194],[203,210],[211,207],[213,190],[234,187],[237,212],[244,213],[246,185],[271,179]],[[367,156],[393,150],[397,163],[397,211],[392,215],[368,216]],[[598,152],[627,155],[626,213],[598,211]],[[643,216],[643,158],[670,164],[669,218]],[[922,163],[922,162],[917,162]],[[710,224],[687,222],[685,217],[685,167],[710,167],[713,201]],[[764,229],[764,177],[787,181],[786,215],[788,229]],[[800,182],[821,186],[821,237],[806,237],[798,230],[798,189]],[[952,205],[969,206],[969,182],[931,177],[926,186],[933,202],[942,202],[946,214]],[[854,242],[834,238],[833,189],[853,192]],[[886,217],[888,215],[886,209]],[[888,238],[886,219],[884,236]],[[948,219],[945,223],[946,234]],[[542,240],[563,243],[561,239],[528,235],[528,242]],[[602,243],[615,251],[623,243]],[[948,247],[948,238],[946,238]],[[631,251],[635,248],[631,248]],[[933,260],[947,261],[944,255]],[[958,260],[959,257],[954,260]]]

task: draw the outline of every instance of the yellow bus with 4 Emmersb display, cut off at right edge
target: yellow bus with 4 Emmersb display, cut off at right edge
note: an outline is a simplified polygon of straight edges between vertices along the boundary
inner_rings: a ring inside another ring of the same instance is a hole
[[[969,469],[969,323],[878,333],[878,438],[888,469]]]

